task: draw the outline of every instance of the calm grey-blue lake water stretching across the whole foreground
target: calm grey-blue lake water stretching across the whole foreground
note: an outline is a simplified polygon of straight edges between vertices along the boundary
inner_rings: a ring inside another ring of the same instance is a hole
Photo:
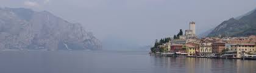
[[[255,60],[155,57],[148,52],[5,51],[0,73],[255,73]]]

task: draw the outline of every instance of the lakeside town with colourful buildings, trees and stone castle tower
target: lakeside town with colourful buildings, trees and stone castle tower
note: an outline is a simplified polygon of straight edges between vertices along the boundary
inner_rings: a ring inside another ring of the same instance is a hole
[[[232,58],[256,60],[256,36],[198,38],[196,23],[190,22],[190,29],[182,29],[177,35],[155,40],[150,54],[168,57]]]

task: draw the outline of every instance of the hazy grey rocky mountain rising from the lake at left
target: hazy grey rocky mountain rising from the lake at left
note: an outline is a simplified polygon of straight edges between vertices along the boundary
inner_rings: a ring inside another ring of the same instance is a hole
[[[101,49],[100,41],[81,24],[49,12],[0,8],[0,49]]]

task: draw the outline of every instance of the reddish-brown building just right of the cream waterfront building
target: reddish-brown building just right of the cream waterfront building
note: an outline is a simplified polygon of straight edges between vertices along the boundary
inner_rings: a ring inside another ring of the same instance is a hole
[[[219,54],[222,50],[225,49],[225,43],[222,41],[218,41],[212,44],[212,52],[215,54]]]

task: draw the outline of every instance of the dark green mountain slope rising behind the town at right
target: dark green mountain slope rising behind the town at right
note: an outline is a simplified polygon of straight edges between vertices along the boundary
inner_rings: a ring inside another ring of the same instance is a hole
[[[249,36],[256,35],[256,10],[238,18],[230,18],[217,26],[208,36]]]

